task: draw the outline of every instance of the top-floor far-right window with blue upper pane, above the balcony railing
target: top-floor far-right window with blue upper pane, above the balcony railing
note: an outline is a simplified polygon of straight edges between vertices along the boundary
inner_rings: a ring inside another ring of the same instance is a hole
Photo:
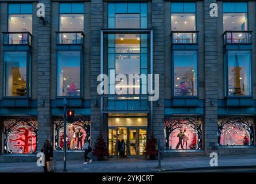
[[[247,2],[223,2],[223,30],[248,30]]]

